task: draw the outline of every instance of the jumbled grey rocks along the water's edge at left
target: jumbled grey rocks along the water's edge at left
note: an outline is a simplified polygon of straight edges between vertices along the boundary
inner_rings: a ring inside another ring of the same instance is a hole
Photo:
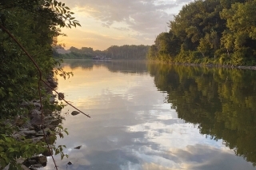
[[[54,80],[52,76],[47,78],[47,83],[54,89],[57,87],[58,83]],[[48,94],[50,94],[50,104],[56,104],[57,96],[49,88]],[[62,93],[63,98],[64,94]],[[54,148],[54,141],[57,139],[56,128],[62,123],[62,117],[60,116],[60,111],[52,112],[49,109],[43,109],[43,114],[41,110],[40,100],[33,100],[29,102],[23,102],[21,107],[24,109],[29,109],[30,112],[28,117],[16,117],[13,125],[18,127],[12,135],[15,140],[22,140],[24,138],[30,139],[32,143],[38,143],[40,141],[46,141],[50,144],[50,148]],[[24,122],[24,120],[28,120]],[[44,132],[46,133],[46,138]],[[30,157],[29,159],[19,158],[17,160],[18,164],[21,164],[24,170],[36,170],[38,168],[45,167],[47,164],[47,156],[51,156],[48,146],[45,146],[45,151],[38,156]],[[8,166],[5,168],[9,169]]]

